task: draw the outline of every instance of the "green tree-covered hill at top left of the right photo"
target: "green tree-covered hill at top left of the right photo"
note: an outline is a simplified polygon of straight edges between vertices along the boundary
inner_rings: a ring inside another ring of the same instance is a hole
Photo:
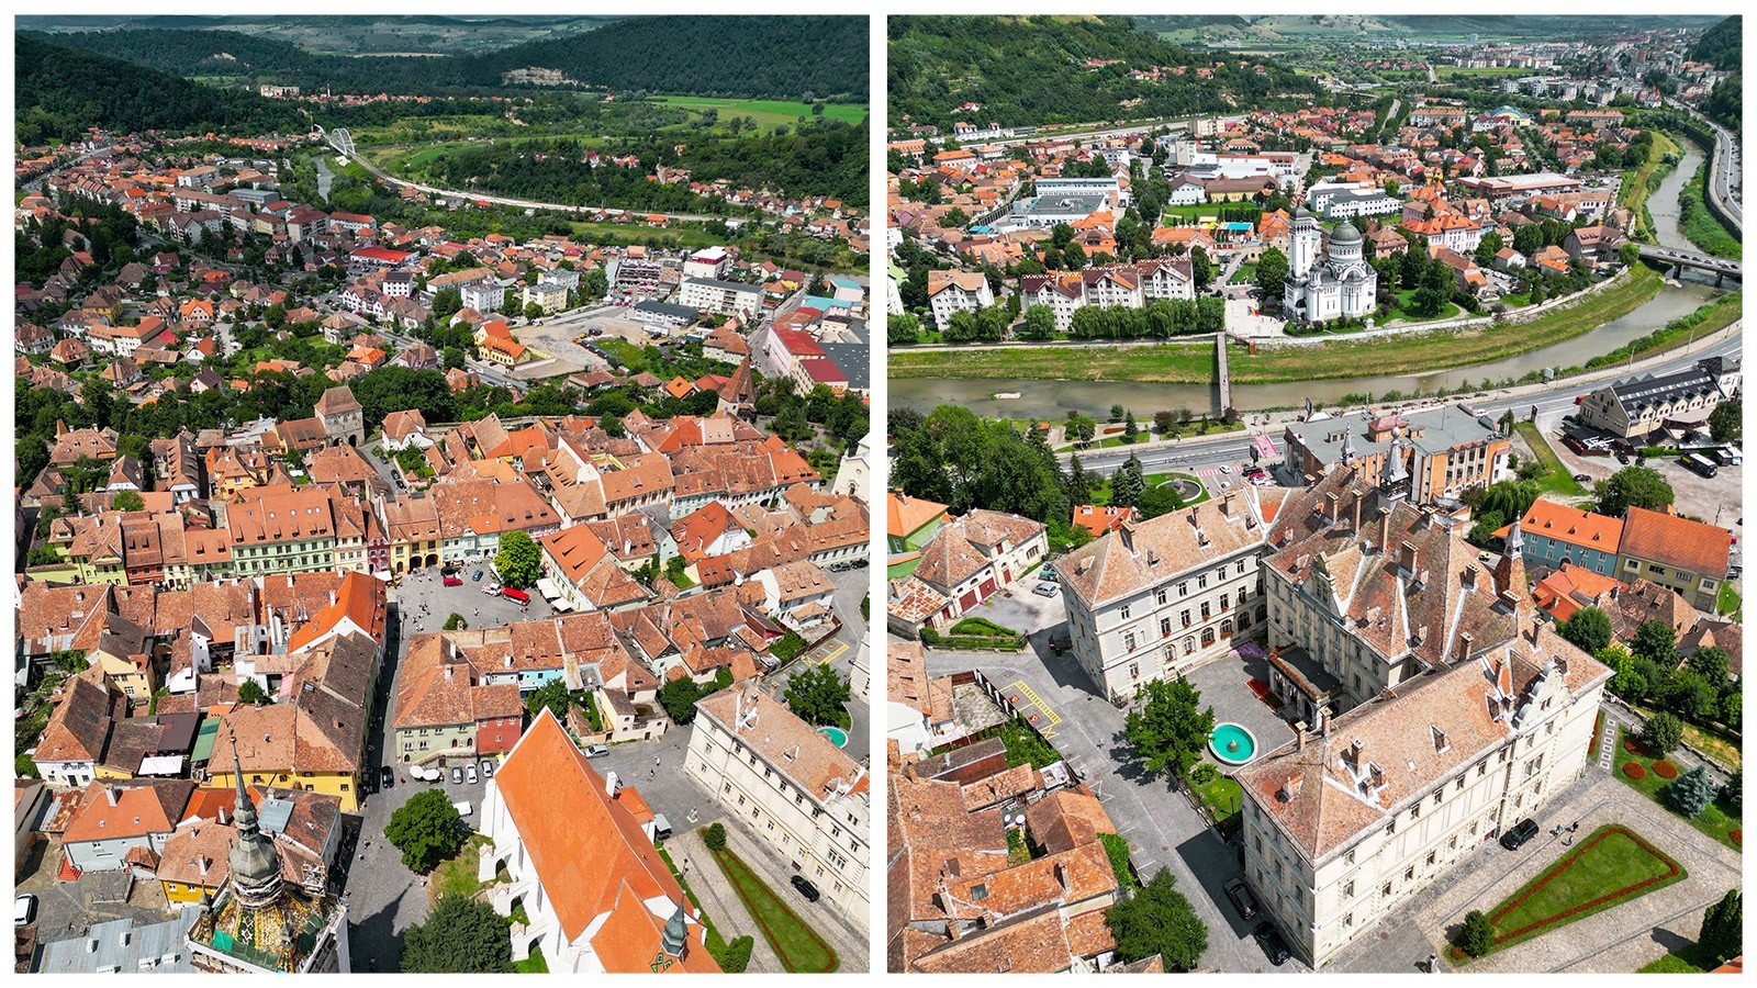
[[[1137,30],[1130,18],[952,18],[889,21],[891,127],[949,127],[956,107],[980,104],[963,120],[1001,125],[1086,123],[1116,118],[1230,113],[1311,95],[1314,84],[1260,58],[1191,51]],[[1107,65],[1093,67],[1091,62]],[[1212,79],[1197,67],[1216,62]],[[1254,65],[1262,63],[1258,72]],[[1186,76],[1135,81],[1130,70],[1188,67]]]

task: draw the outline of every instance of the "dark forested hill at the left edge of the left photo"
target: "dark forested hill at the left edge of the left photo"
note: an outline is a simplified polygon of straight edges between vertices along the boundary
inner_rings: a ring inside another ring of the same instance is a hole
[[[200,86],[176,76],[19,35],[14,58],[18,141],[70,141],[107,130],[304,132],[293,105]]]

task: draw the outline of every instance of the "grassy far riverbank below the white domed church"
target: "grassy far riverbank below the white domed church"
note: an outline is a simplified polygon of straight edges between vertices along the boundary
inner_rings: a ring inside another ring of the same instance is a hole
[[[1662,276],[1636,265],[1627,283],[1527,323],[1425,332],[1383,339],[1335,339],[1320,348],[1233,352],[1233,385],[1423,374],[1516,357],[1581,336],[1653,299]],[[1009,346],[889,355],[891,378],[1019,378],[1205,385],[1214,380],[1214,345]]]

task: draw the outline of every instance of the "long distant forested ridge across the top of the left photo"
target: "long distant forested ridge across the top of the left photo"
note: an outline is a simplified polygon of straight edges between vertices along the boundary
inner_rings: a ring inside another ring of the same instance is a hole
[[[618,91],[864,100],[866,18],[629,18],[578,37],[437,58],[315,54],[221,30],[37,35],[188,77],[336,91],[501,88],[511,69],[557,69]]]

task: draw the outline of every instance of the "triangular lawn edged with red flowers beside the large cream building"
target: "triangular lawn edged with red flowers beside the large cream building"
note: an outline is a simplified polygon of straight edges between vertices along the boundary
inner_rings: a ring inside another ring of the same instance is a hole
[[[1688,874],[1678,861],[1634,832],[1616,825],[1601,826],[1488,914],[1495,926],[1495,944],[1488,953],[1541,937],[1685,877]],[[1458,948],[1451,948],[1451,958],[1469,960]]]

